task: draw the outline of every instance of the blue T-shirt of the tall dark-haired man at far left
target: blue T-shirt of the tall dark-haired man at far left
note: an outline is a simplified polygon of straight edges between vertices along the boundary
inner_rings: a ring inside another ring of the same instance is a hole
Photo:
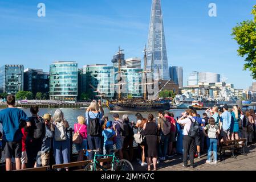
[[[27,114],[17,108],[7,108],[0,111],[0,123],[3,125],[3,140],[19,142],[22,140],[21,127],[29,122]]]

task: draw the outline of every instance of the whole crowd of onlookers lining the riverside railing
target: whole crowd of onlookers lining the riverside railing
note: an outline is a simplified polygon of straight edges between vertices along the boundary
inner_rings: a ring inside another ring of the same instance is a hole
[[[7,109],[0,111],[3,126],[2,148],[6,160],[6,170],[70,163],[70,143],[67,129],[70,124],[62,110],[57,109],[53,116],[38,115],[38,106],[30,108],[31,116],[15,107],[15,97],[7,96]],[[136,121],[129,115],[113,113],[113,121],[104,115],[100,101],[92,101],[84,115],[79,115],[74,125],[72,142],[78,151],[78,161],[94,159],[98,154],[112,154],[113,148],[120,159],[133,161],[138,156],[139,164],[150,171],[157,170],[157,164],[183,155],[183,166],[196,167],[194,158],[206,153],[206,163],[216,164],[217,148],[227,140],[246,138],[246,144],[256,140],[254,110],[242,111],[234,106],[231,111],[225,105],[214,106],[202,116],[196,110],[188,109],[176,118],[169,111],[159,111],[158,115],[140,113]],[[134,154],[133,143],[138,144]],[[213,156],[213,161],[212,161]],[[100,158],[100,157],[99,157]],[[68,170],[68,168],[66,168]]]

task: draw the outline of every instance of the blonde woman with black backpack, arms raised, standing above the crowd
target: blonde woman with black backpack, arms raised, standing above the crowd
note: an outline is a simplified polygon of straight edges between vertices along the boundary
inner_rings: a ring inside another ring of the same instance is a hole
[[[86,125],[87,125],[87,142],[90,150],[100,150],[100,154],[103,154],[103,142],[102,142],[102,126],[104,110],[101,107],[101,101],[92,101],[91,105],[86,110]],[[89,160],[93,159],[94,152],[89,153]]]

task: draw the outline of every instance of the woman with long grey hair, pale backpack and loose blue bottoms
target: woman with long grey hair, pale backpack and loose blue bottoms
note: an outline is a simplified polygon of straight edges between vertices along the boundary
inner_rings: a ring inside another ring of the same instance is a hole
[[[64,119],[62,110],[57,109],[54,113],[54,156],[56,164],[66,164],[70,162],[70,141],[66,129],[70,127]]]

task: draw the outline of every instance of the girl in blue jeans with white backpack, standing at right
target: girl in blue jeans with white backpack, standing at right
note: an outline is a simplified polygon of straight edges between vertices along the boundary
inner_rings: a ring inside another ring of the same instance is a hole
[[[205,133],[206,130],[208,130],[208,134]],[[214,164],[217,164],[217,144],[218,135],[220,134],[220,127],[216,125],[214,118],[209,119],[209,125],[204,127],[203,132],[205,136],[209,138],[208,160],[206,160],[206,163],[212,162],[210,158],[213,151]]]

